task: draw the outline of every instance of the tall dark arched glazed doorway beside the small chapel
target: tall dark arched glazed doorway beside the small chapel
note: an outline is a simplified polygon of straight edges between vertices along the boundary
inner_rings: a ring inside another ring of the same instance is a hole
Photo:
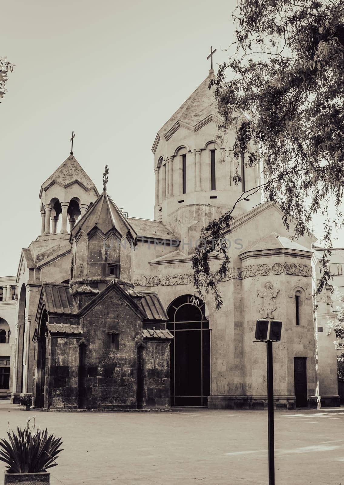
[[[202,300],[183,295],[167,310],[171,343],[171,405],[207,406],[210,395],[210,329]]]

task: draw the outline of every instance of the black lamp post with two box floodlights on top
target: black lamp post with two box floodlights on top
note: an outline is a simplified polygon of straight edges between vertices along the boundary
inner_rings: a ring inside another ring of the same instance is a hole
[[[268,320],[257,320],[254,338],[261,342],[266,342],[269,485],[275,485],[274,369],[272,361],[272,342],[280,341],[282,322],[278,320],[270,321],[269,338],[267,339],[268,326]]]

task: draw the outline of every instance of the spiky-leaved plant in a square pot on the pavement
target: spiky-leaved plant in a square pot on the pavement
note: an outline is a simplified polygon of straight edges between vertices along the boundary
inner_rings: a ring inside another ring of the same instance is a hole
[[[30,418],[25,429],[10,431],[8,439],[0,439],[0,460],[7,464],[4,484],[49,485],[50,473],[55,467],[55,458],[62,450],[61,438],[48,435],[48,430],[35,430],[35,422],[30,427]]]

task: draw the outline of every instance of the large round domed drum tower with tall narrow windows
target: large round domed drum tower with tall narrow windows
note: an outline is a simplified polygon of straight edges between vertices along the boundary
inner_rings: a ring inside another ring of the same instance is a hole
[[[215,86],[209,89],[214,79],[214,70],[210,69],[205,80],[158,131],[152,146],[154,218],[180,239],[190,240],[194,233],[199,236],[202,227],[230,210],[244,191],[260,184],[261,170],[248,166],[247,152],[238,161],[233,156],[234,128],[226,133],[224,142],[219,141],[222,119],[214,97]],[[239,184],[232,180],[235,171],[241,174]],[[248,193],[236,213],[244,213],[260,202],[259,193]]]

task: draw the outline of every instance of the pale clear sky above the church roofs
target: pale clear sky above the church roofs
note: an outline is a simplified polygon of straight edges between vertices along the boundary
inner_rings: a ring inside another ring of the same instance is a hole
[[[0,55],[16,65],[0,105],[0,275],[40,234],[41,184],[74,156],[99,192],[153,218],[155,135],[233,41],[233,0],[12,0]]]

